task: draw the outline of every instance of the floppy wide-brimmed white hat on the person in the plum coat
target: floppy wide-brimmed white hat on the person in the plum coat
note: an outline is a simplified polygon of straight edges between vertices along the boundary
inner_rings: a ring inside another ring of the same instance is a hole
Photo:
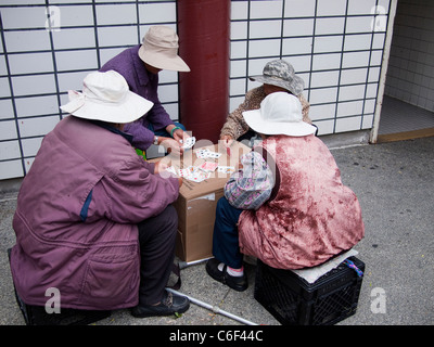
[[[82,92],[69,91],[69,102],[61,110],[76,117],[108,123],[131,123],[143,116],[153,102],[131,92],[115,70],[94,72],[82,81]]]

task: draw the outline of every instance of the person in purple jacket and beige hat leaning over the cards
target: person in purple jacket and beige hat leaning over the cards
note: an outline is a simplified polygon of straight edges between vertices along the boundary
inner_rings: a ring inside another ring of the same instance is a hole
[[[140,119],[125,126],[125,130],[133,137],[132,144],[142,151],[151,144],[162,144],[175,154],[183,153],[182,142],[189,137],[186,128],[170,119],[157,93],[158,73],[162,69],[190,72],[178,55],[177,34],[164,25],[150,27],[142,44],[123,51],[100,70],[110,69],[123,75],[132,92],[154,103]]]

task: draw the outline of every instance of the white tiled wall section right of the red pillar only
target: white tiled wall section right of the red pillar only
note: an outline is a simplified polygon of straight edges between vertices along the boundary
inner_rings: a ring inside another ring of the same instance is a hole
[[[233,0],[230,111],[259,86],[248,76],[284,59],[305,80],[319,134],[371,128],[388,8],[388,0]]]

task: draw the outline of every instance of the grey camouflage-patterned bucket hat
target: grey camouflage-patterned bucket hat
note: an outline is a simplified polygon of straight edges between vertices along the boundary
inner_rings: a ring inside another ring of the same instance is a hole
[[[301,94],[305,89],[304,80],[296,76],[294,67],[283,60],[268,62],[264,66],[263,75],[252,76],[250,79],[266,85],[282,87],[294,95]]]

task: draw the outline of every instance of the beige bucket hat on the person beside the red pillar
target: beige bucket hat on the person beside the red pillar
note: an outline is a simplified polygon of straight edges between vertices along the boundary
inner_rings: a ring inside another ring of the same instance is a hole
[[[161,69],[190,72],[190,67],[178,55],[178,35],[164,25],[151,26],[139,49],[140,59]]]

